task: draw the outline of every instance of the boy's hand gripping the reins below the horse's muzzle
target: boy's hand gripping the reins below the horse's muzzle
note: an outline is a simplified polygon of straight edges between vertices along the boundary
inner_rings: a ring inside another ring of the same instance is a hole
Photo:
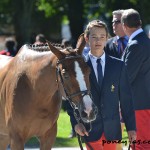
[[[84,136],[84,135],[89,136],[88,132],[86,131],[82,123],[75,125],[74,129],[76,133],[78,133],[80,136]]]

